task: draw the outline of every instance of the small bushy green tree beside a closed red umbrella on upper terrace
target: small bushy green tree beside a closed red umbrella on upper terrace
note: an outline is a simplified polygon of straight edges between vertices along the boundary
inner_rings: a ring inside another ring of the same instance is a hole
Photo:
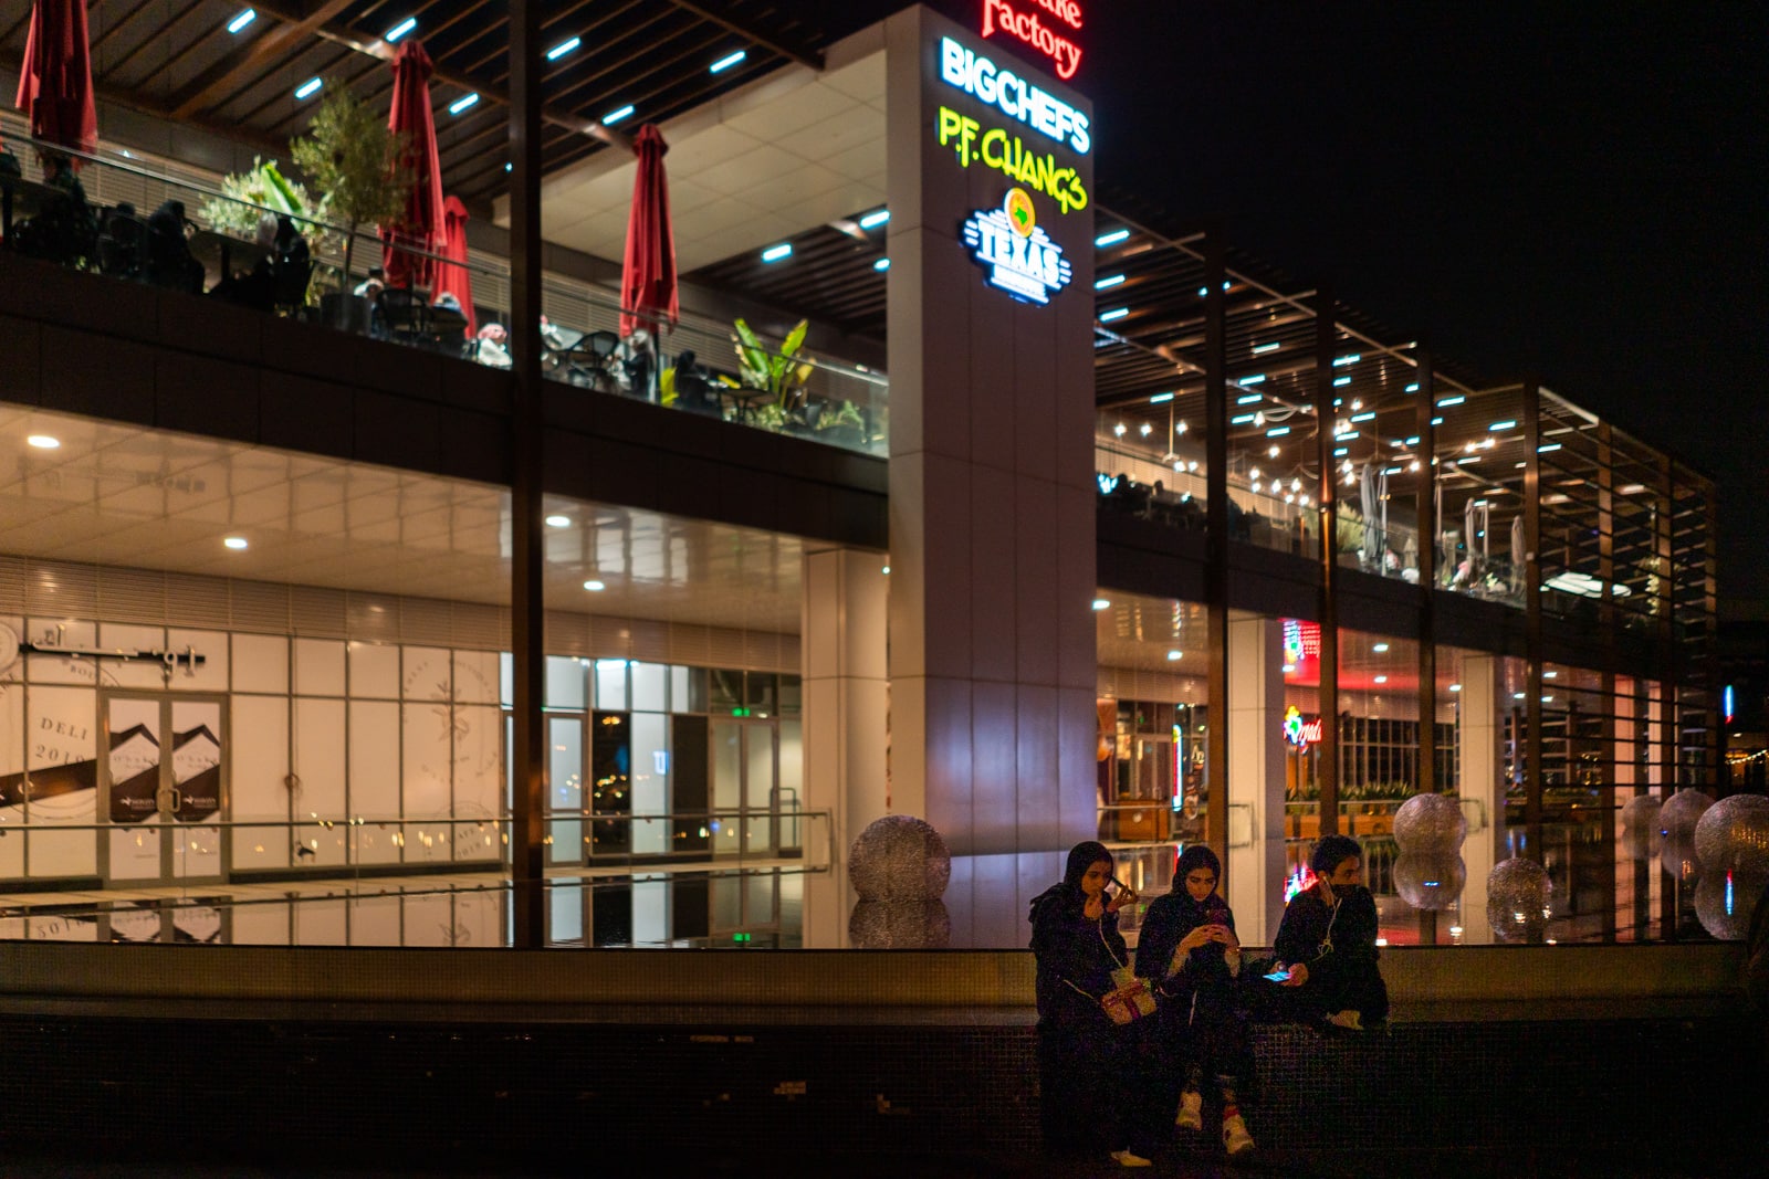
[[[325,92],[308,134],[294,140],[288,152],[320,191],[324,216],[341,221],[347,230],[340,292],[347,293],[357,228],[391,224],[405,212],[412,179],[398,166],[400,136],[387,129],[386,115],[340,87]]]

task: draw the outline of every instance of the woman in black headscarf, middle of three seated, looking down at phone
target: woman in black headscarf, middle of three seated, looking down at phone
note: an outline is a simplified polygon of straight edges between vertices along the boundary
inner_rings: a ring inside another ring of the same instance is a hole
[[[1173,1092],[1171,1075],[1183,1076],[1175,1124],[1203,1130],[1203,1078],[1206,1071],[1215,1076],[1222,1145],[1242,1154],[1252,1149],[1252,1135],[1235,1092],[1247,1055],[1235,914],[1215,891],[1222,864],[1208,847],[1194,843],[1180,852],[1173,875],[1178,887],[1148,907],[1136,949],[1136,972],[1160,1002],[1159,1046],[1171,1062],[1164,1091]]]

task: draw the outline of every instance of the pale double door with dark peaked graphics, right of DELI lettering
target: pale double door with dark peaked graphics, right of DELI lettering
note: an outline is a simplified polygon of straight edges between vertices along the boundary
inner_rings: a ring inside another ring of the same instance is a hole
[[[221,880],[223,700],[106,693],[103,709],[106,877]]]

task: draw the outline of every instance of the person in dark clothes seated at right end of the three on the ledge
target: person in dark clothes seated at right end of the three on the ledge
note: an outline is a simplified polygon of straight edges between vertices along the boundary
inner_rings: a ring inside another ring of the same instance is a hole
[[[1364,887],[1364,850],[1343,834],[1321,836],[1309,856],[1314,884],[1297,893],[1277,926],[1274,970],[1291,1018],[1362,1031],[1389,1018],[1389,986],[1376,969],[1376,901]]]

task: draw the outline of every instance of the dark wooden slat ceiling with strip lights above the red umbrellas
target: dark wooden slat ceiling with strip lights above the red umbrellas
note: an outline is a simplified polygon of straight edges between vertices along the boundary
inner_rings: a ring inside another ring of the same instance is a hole
[[[257,19],[228,32],[244,9]],[[287,161],[318,95],[310,78],[386,104],[394,46],[407,34],[435,62],[430,83],[444,189],[485,212],[504,189],[508,161],[509,12],[497,0],[90,0],[92,74],[99,97],[177,122],[207,126]],[[25,53],[28,4],[5,5],[0,65]],[[821,64],[826,34],[766,0],[559,0],[543,16],[547,46],[580,46],[545,64],[543,166],[564,168],[626,131],[663,122],[782,64]],[[743,51],[741,62],[709,67]],[[449,104],[478,94],[460,115]],[[633,106],[612,127],[609,113]],[[103,129],[101,129],[103,133]]]

